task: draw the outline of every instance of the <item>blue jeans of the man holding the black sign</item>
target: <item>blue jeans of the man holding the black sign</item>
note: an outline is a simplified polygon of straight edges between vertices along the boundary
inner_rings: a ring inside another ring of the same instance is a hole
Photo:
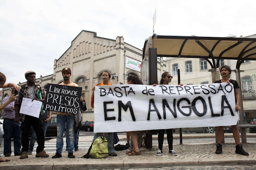
[[[68,134],[67,152],[73,153],[74,149],[74,115],[57,115],[57,142],[56,153],[61,154],[63,148],[63,133],[66,124],[66,134]]]

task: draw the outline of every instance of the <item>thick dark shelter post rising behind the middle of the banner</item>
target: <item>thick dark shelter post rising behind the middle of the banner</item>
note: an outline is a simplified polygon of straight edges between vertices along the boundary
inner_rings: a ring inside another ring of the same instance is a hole
[[[149,48],[149,80],[148,85],[157,84],[157,56],[156,48]],[[152,148],[152,133],[146,133],[145,147],[147,149]]]

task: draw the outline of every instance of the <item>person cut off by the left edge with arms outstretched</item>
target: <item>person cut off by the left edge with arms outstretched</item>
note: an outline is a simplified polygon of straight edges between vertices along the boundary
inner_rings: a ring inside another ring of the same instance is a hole
[[[0,88],[7,88],[7,87],[14,87],[15,86],[16,90],[20,89],[19,86],[15,85],[13,83],[5,83],[5,81],[6,81],[5,75],[0,72]],[[0,105],[0,111],[3,110],[6,106],[8,106],[8,104],[10,104],[11,102],[14,102],[15,100],[16,100],[16,96],[11,95],[5,103]],[[2,143],[2,131],[0,129],[0,147],[1,147],[1,143]],[[2,158],[1,154],[0,154],[0,162],[8,162],[8,161],[10,161],[10,160]]]

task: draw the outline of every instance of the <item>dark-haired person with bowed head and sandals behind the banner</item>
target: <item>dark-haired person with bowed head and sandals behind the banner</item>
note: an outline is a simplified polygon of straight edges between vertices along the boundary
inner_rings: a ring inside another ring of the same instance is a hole
[[[142,82],[138,79],[136,76],[128,76],[127,77],[127,84],[142,84]],[[133,148],[131,148],[129,151],[126,152],[128,156],[136,156],[140,155],[140,151],[138,149],[138,136],[136,131],[130,131],[127,132],[127,134],[130,136]]]

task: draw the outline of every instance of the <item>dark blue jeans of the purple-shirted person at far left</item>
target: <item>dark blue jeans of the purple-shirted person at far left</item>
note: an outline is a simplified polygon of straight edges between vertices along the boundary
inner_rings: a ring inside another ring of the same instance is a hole
[[[4,132],[4,147],[3,155],[11,154],[11,137],[13,137],[14,154],[20,153],[21,148],[21,129],[20,123],[15,123],[14,120],[3,120],[3,132]]]

